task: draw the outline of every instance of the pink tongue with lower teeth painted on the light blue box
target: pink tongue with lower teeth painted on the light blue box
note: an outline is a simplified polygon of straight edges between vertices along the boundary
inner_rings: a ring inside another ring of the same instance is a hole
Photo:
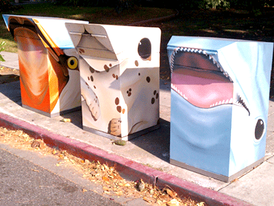
[[[210,108],[220,104],[232,104],[233,83],[172,73],[171,88],[191,104]]]

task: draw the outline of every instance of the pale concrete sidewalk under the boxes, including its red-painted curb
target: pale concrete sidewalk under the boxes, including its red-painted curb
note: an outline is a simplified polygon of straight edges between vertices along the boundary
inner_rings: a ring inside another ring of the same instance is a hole
[[[16,54],[1,55],[6,61],[0,65],[18,69]],[[60,122],[64,117],[71,118],[71,123]],[[159,187],[170,185],[179,194],[208,205],[274,205],[274,100],[269,101],[264,163],[232,183],[169,163],[170,82],[165,80],[160,80],[160,129],[132,139],[126,146],[82,130],[81,111],[49,118],[23,108],[19,82],[0,86],[0,126],[21,128],[51,146],[116,165],[129,179],[142,178]]]

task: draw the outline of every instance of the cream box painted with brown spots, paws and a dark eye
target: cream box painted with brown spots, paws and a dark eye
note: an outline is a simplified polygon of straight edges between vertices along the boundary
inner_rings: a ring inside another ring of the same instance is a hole
[[[160,29],[73,23],[66,28],[79,54],[84,130],[128,140],[157,128]]]

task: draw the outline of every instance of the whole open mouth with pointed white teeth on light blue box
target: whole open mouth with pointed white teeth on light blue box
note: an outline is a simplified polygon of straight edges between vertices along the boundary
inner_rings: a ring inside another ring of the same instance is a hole
[[[212,108],[223,104],[249,108],[238,93],[228,73],[224,71],[216,55],[202,49],[177,47],[170,56],[171,88],[185,100],[200,108]]]

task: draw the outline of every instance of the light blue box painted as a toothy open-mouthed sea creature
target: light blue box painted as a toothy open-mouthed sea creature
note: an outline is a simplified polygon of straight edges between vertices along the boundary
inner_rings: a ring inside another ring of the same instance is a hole
[[[273,43],[172,36],[171,163],[232,181],[264,160]]]

